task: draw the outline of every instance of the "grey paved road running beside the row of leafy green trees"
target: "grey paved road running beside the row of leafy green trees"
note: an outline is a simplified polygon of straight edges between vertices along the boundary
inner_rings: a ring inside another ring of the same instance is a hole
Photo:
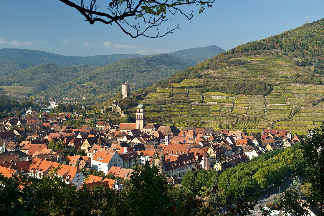
[[[261,216],[260,213],[260,208],[259,206],[263,206],[263,200],[264,200],[264,204],[266,202],[272,202],[274,197],[279,197],[280,194],[282,194],[282,192],[289,187],[289,184],[291,184],[293,182],[294,178],[290,178],[288,181],[283,182],[281,184],[276,184],[274,185],[272,188],[269,188],[268,190],[262,192],[259,196],[259,204],[257,204],[254,207],[254,210],[252,211],[252,214],[249,215],[255,215],[255,216]],[[279,194],[279,187],[280,187],[280,194]]]

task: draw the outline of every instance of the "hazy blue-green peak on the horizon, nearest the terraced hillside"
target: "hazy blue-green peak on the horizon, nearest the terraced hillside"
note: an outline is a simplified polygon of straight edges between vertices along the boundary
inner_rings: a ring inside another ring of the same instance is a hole
[[[169,53],[171,56],[183,59],[189,62],[195,63],[194,65],[202,62],[203,60],[216,56],[218,53],[224,52],[225,49],[216,45],[210,45],[206,47],[197,47],[191,49],[178,50],[173,53]]]

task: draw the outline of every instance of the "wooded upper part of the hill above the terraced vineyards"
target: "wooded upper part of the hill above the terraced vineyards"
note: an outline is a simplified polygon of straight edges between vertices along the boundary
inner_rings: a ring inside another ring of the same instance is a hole
[[[283,55],[291,58],[294,57],[296,66],[315,66],[312,71],[314,73],[306,73],[306,76],[296,74],[294,77],[293,74],[291,74],[291,76],[287,77],[287,81],[295,83],[323,84],[323,80],[321,82],[318,81],[318,78],[321,79],[322,77],[316,75],[318,71],[323,70],[324,64],[324,19],[320,19],[312,23],[306,23],[293,30],[270,36],[259,41],[242,44],[226,52],[222,52],[217,56],[206,59],[195,67],[190,67],[178,74],[170,76],[168,80],[162,83],[162,86],[166,86],[167,83],[179,83],[188,77],[201,77],[201,72],[206,70],[219,70],[230,66],[244,65],[249,62],[245,61],[244,58],[239,57],[260,55],[266,50],[282,51]],[[269,63],[271,64],[271,62]],[[309,70],[311,70],[311,68],[309,68]],[[319,75],[322,74],[323,72],[319,72]],[[267,82],[267,80],[264,79],[262,81]],[[206,87],[210,88],[210,86]],[[230,91],[228,88],[217,87],[216,89],[223,91],[224,93]],[[239,94],[240,92],[235,91],[231,94],[236,93]]]

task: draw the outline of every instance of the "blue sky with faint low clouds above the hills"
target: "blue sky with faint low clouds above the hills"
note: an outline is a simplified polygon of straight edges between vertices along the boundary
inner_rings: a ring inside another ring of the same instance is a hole
[[[84,2],[87,2],[85,0]],[[107,1],[98,0],[105,7]],[[76,4],[80,0],[75,0]],[[131,38],[116,25],[90,23],[74,8],[58,0],[2,1],[0,48],[42,50],[67,56],[110,54],[157,54],[180,49],[217,45],[229,50],[308,22],[324,18],[323,0],[215,1],[199,14],[193,10],[191,23],[178,14],[168,27],[179,28],[162,38]],[[103,10],[103,9],[102,9]],[[163,31],[165,26],[161,26]]]

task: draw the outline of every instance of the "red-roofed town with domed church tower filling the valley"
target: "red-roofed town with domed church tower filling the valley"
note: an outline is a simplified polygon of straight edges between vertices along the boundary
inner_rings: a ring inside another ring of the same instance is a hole
[[[129,97],[125,83],[122,99]],[[151,167],[158,166],[168,184],[185,186],[182,178],[195,168],[220,174],[262,154],[295,146],[304,138],[286,129],[264,128],[247,134],[228,129],[146,124],[143,104],[136,108],[135,123],[99,120],[96,126],[73,127],[64,122],[76,113],[50,115],[52,109],[65,105],[58,101],[49,104],[39,113],[26,109],[21,119],[0,119],[0,172],[4,176],[41,179],[56,169],[56,176],[77,189],[103,185],[121,191],[121,180],[131,180],[133,168],[149,163]],[[116,103],[112,105],[115,112],[123,115]]]

